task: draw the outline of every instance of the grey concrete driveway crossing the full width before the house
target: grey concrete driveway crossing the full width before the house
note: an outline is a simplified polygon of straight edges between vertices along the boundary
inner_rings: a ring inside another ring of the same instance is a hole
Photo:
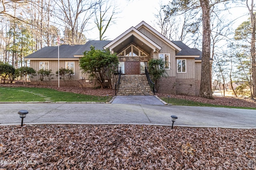
[[[0,104],[0,125],[20,124],[154,124],[192,127],[256,128],[256,110],[148,104],[25,103]]]

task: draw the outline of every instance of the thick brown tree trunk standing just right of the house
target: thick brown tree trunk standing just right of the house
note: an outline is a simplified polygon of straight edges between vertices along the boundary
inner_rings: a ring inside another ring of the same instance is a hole
[[[199,96],[208,99],[214,99],[211,89],[211,64],[210,64],[210,45],[211,45],[211,28],[210,28],[210,4],[209,0],[200,0],[202,8],[202,68],[201,83]]]

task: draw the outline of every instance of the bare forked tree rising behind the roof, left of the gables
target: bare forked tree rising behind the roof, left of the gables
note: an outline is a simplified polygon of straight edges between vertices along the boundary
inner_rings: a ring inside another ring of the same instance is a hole
[[[108,0],[99,0],[98,4],[95,6],[94,23],[97,25],[99,30],[99,40],[104,40],[106,38],[104,33],[111,25],[111,23],[114,23],[114,17],[116,14],[118,14],[116,10],[117,8],[115,4],[113,4],[113,1]]]

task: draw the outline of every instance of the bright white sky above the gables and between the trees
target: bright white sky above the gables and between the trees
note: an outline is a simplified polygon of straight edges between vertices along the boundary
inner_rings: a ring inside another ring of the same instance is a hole
[[[156,20],[154,14],[160,9],[160,1],[162,4],[168,4],[170,0],[115,0],[116,5],[119,8],[119,14],[116,15],[115,24],[110,25],[107,29],[105,36],[108,40],[113,40],[132,26],[138,25],[141,21],[145,21],[154,29],[158,30],[154,25]],[[231,9],[229,12],[232,18],[248,13],[248,9],[245,7],[236,7]],[[235,28],[245,21],[248,16],[241,17],[233,25]],[[158,30],[160,31],[160,30]],[[98,29],[94,28],[88,32],[86,38],[88,40],[98,40]]]

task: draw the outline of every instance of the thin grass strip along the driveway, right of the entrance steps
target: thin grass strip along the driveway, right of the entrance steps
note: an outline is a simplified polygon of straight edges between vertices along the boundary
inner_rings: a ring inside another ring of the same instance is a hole
[[[167,97],[162,97],[162,100],[164,102],[168,103]],[[236,108],[236,109],[254,109],[253,107],[236,107],[236,106],[222,106],[222,105],[214,105],[214,104],[206,104],[201,102],[194,102],[191,100],[185,100],[185,99],[176,99],[176,98],[169,98],[169,103],[174,106],[205,106],[205,107],[226,107],[226,108]]]

